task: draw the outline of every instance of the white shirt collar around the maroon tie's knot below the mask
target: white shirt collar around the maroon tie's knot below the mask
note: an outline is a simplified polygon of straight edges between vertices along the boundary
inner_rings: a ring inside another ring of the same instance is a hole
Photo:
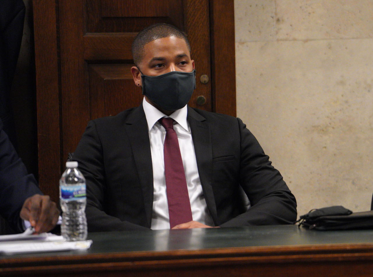
[[[144,108],[146,121],[148,123],[148,131],[150,131],[151,128],[153,128],[154,124],[156,124],[156,122],[159,119],[161,119],[162,117],[167,117],[164,113],[162,113],[156,107],[148,103],[145,100],[145,98],[142,99],[142,107]],[[183,127],[186,131],[189,132],[188,122],[186,121],[187,114],[188,114],[188,108],[185,105],[183,108],[174,111],[172,114],[170,114],[169,117],[171,117],[173,120],[179,123],[181,127]]]

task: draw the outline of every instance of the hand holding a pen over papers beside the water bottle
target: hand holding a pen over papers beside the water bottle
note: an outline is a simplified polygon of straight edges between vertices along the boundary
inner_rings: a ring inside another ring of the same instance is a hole
[[[60,211],[47,195],[34,194],[23,203],[19,216],[28,220],[35,233],[50,231],[56,226]]]

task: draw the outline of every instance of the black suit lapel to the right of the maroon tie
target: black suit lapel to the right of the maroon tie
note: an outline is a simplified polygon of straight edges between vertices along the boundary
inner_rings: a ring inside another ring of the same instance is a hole
[[[212,190],[212,147],[211,132],[206,119],[188,106],[188,122],[191,128],[198,174],[202,184],[203,194],[210,215],[216,224],[217,212]]]

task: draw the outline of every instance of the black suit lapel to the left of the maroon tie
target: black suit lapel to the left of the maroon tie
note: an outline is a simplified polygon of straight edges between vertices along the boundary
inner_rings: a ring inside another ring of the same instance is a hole
[[[145,214],[148,227],[153,212],[153,167],[151,164],[148,125],[142,105],[136,108],[125,122],[125,129],[131,143],[137,174],[144,196]]]

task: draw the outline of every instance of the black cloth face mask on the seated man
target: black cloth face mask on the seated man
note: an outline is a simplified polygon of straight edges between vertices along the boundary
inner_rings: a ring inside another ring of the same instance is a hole
[[[171,71],[159,76],[141,75],[142,94],[167,111],[181,109],[195,90],[195,70]]]

